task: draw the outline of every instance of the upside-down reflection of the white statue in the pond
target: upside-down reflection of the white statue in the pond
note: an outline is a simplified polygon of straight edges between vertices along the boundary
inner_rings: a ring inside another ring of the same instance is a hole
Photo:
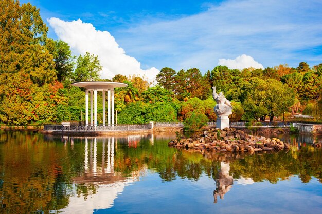
[[[213,203],[217,203],[217,197],[224,199],[224,195],[231,189],[234,183],[234,178],[229,174],[229,162],[221,162],[221,169],[219,171],[218,179],[216,179],[216,190],[213,191]]]

